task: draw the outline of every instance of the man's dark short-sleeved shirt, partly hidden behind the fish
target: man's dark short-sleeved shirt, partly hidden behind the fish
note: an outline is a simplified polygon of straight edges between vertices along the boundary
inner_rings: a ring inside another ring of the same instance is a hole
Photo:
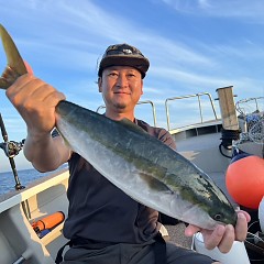
[[[135,120],[148,134],[176,148],[172,135]],[[110,243],[142,243],[160,230],[158,212],[139,204],[111,184],[77,153],[69,160],[67,239]]]

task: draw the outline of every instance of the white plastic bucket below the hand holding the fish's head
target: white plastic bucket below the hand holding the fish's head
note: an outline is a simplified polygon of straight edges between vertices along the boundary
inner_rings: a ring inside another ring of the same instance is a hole
[[[213,250],[207,250],[202,234],[197,233],[194,235],[193,250],[209,255],[211,258],[221,262],[221,264],[250,264],[249,255],[243,242],[234,241],[230,252],[223,254],[217,248]]]

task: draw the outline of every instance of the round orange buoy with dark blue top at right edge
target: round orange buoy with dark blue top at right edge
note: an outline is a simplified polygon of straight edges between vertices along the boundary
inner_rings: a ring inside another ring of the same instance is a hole
[[[227,169],[226,184],[240,206],[257,209],[264,196],[264,160],[245,153],[238,154]]]

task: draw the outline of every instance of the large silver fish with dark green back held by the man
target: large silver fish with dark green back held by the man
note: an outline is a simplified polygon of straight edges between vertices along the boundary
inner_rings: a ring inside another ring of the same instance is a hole
[[[8,89],[26,68],[1,25],[0,34],[8,58],[0,88]],[[73,151],[133,199],[205,229],[235,224],[233,207],[211,178],[134,123],[68,101],[61,101],[56,113],[56,128]]]

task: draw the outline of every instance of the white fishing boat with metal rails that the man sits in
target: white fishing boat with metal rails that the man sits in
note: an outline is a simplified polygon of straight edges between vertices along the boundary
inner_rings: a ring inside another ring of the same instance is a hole
[[[240,207],[228,191],[226,172],[230,165],[230,157],[234,148],[257,155],[261,158],[264,157],[263,136],[260,136],[260,133],[263,135],[263,109],[260,109],[258,106],[260,102],[263,102],[263,98],[250,99],[255,106],[253,112],[260,117],[257,120],[260,130],[257,130],[257,127],[254,133],[250,133],[250,113],[241,114],[241,112],[238,112],[232,86],[217,89],[217,95],[221,117],[218,117],[216,103],[208,92],[167,98],[164,102],[167,129],[176,141],[177,152],[206,172],[222,189],[233,206]],[[173,128],[172,105],[188,98],[197,99],[200,120],[182,128]],[[201,98],[206,98],[209,102],[213,113],[212,120],[205,120]],[[248,101],[240,101],[240,106],[244,102]],[[155,105],[151,101],[140,103],[151,103],[155,124]],[[256,127],[256,124],[254,125]],[[4,128],[3,123],[1,128]],[[7,131],[2,134],[7,134]],[[63,226],[68,207],[66,197],[68,169],[64,167],[58,173],[51,173],[51,175],[22,188],[13,162],[14,155],[19,153],[22,145],[9,141],[8,136],[4,139],[2,148],[13,167],[15,190],[0,196],[0,263],[54,263],[57,251],[67,242],[63,235]],[[165,224],[162,228],[162,233],[166,240],[170,240],[173,243],[202,251],[202,246],[198,243],[202,242],[200,238],[186,238],[184,228],[185,223],[183,222]],[[261,230],[257,230],[257,232],[260,233]],[[252,240],[246,241],[246,243],[242,243],[242,248],[240,246],[240,250],[244,250],[243,254],[240,253],[240,256],[244,258],[232,263],[261,263],[254,262],[253,258],[255,257],[257,257],[256,261],[261,260],[264,263],[264,249]],[[221,253],[217,254],[220,257]],[[231,257],[238,260],[238,252],[235,256]],[[221,262],[230,264],[229,261],[221,260]]]

